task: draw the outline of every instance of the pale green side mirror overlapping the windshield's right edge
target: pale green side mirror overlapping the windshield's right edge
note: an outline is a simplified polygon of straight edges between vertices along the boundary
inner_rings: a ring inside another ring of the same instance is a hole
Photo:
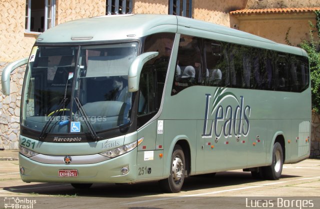
[[[156,57],[159,54],[157,51],[145,52],[132,61],[129,72],[128,72],[128,90],[129,92],[134,92],[139,89],[140,73],[143,67],[143,64],[148,60]]]

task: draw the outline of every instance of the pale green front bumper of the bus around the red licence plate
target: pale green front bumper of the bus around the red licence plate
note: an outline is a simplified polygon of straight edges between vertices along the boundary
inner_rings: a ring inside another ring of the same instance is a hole
[[[46,164],[19,153],[20,176],[24,182],[130,183],[136,181],[136,155],[134,148],[93,164]],[[128,172],[123,174],[122,168],[127,168]],[[61,176],[60,172],[67,170],[72,170],[72,176]]]

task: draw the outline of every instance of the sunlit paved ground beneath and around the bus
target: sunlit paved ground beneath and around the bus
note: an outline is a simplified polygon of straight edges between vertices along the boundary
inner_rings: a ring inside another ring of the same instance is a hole
[[[15,159],[17,152],[11,154]],[[320,208],[320,160],[285,164],[274,181],[255,180],[241,170],[191,176],[179,193],[163,193],[157,182],[101,183],[84,190],[67,183],[24,183],[18,161],[1,160],[0,208],[12,202],[20,208]]]

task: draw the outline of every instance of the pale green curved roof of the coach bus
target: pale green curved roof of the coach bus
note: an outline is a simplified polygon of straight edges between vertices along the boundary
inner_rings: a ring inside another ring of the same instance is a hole
[[[178,32],[307,56],[301,48],[276,43],[241,30],[165,14],[120,14],[76,19],[41,33],[36,44],[123,40],[157,32]]]

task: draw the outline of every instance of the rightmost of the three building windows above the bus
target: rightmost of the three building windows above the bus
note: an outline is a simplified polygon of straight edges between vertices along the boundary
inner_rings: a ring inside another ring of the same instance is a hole
[[[169,0],[168,14],[191,17],[191,0]]]

